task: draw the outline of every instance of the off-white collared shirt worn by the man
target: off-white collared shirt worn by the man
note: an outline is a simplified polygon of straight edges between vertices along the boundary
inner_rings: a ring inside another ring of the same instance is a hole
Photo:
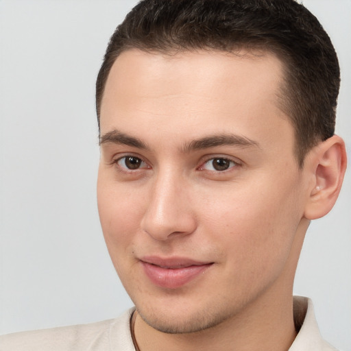
[[[0,351],[135,351],[130,335],[133,311],[103,322],[3,335]],[[289,351],[337,350],[320,335],[311,300],[294,298],[294,318],[302,326]]]

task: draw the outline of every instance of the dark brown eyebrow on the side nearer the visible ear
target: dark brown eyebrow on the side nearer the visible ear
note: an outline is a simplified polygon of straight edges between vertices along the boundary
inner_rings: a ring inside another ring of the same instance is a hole
[[[245,136],[240,136],[237,134],[218,134],[213,136],[205,136],[191,143],[184,145],[184,152],[191,152],[197,149],[208,149],[210,147],[216,146],[226,146],[233,145],[239,147],[256,147],[260,149],[259,143]]]

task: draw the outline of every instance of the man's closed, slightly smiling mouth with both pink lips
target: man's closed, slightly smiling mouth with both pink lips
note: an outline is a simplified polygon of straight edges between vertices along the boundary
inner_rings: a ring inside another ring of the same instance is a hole
[[[194,280],[213,265],[213,262],[193,261],[189,258],[144,257],[141,265],[145,275],[154,285],[177,289]]]

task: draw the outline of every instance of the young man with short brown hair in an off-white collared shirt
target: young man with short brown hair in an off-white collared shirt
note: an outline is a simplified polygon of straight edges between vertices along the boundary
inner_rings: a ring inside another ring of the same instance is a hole
[[[97,78],[99,215],[136,308],[4,350],[335,350],[292,287],[346,169],[338,91],[293,0],[139,3]]]

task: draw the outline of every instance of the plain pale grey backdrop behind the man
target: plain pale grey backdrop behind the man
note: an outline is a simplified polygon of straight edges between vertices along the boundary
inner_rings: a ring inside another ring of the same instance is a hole
[[[0,0],[0,334],[116,317],[132,306],[97,216],[95,78],[136,1]],[[351,1],[305,0],[330,34],[343,82],[337,134],[351,141]],[[311,224],[295,294],[330,343],[351,350],[351,177]]]

